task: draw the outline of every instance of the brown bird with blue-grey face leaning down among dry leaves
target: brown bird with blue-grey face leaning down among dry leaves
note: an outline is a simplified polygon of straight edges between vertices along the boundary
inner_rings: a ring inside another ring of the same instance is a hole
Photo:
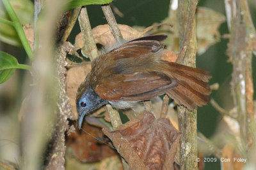
[[[77,89],[78,127],[101,106],[125,110],[140,101],[167,94],[194,110],[209,101],[211,78],[204,69],[161,59],[164,34],[133,39],[92,60],[92,70]]]

